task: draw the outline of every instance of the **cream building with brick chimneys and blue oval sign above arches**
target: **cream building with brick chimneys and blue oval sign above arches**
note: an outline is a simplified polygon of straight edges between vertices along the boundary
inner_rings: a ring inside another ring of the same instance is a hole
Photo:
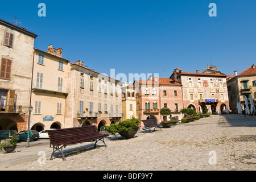
[[[34,49],[31,130],[65,127],[68,63],[62,58],[61,48],[50,45],[47,52]]]

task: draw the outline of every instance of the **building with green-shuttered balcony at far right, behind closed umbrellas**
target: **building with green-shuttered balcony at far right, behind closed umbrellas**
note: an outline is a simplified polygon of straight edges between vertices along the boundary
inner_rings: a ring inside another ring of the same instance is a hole
[[[232,111],[237,112],[237,102],[240,102],[242,110],[245,110],[245,96],[250,108],[250,94],[253,97],[253,104],[255,106],[256,69],[254,64],[239,74],[237,74],[237,71],[234,71],[234,75],[229,75],[226,80],[228,84],[229,105]]]

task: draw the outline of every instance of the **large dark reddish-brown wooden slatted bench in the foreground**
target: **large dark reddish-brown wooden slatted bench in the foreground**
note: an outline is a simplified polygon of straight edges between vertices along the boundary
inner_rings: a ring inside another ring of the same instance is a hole
[[[48,130],[48,135],[50,143],[53,146],[53,152],[50,160],[52,160],[52,156],[57,150],[61,152],[63,160],[66,160],[62,149],[68,145],[96,140],[94,144],[94,147],[96,147],[98,140],[104,142],[104,138],[109,137],[108,134],[100,134],[97,127],[94,125],[73,127],[69,129]],[[105,142],[104,144],[106,147]]]

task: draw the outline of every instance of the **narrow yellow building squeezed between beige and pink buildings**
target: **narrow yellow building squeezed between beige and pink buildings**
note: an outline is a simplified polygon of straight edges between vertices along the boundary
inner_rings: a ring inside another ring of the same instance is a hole
[[[136,113],[136,97],[135,97],[135,87],[133,84],[123,84],[122,88],[122,111],[123,120],[131,119],[133,115],[137,117]]]

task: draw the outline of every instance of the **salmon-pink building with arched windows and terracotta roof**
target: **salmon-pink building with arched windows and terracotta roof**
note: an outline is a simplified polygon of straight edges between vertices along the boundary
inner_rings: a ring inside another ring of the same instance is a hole
[[[157,122],[170,120],[160,115],[160,109],[168,108],[172,117],[181,119],[183,109],[182,85],[171,78],[150,76],[148,80],[135,80],[137,118],[139,120],[155,119]],[[143,125],[143,123],[142,123]]]

